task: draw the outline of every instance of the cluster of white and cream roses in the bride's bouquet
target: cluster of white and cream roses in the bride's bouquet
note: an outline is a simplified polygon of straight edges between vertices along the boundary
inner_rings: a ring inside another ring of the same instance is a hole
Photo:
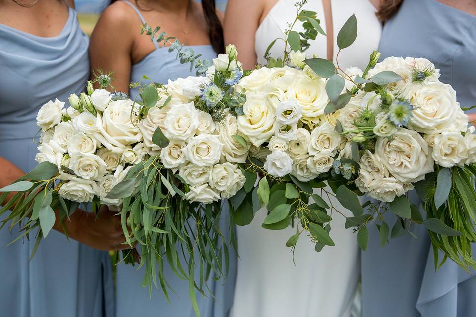
[[[305,56],[296,58],[302,66]],[[332,168],[345,142],[335,131],[335,116],[324,114],[326,80],[302,67],[263,67],[241,79],[237,89],[246,92],[247,100],[238,130],[252,144],[252,155],[265,160],[270,175],[309,181]]]

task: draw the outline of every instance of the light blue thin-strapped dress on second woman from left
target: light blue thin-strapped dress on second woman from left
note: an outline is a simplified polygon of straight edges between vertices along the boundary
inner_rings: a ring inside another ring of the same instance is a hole
[[[142,23],[144,18],[137,8],[130,2],[129,4],[139,15]],[[154,26],[152,26],[154,27]],[[159,48],[158,44],[155,51],[148,54],[137,64],[132,66],[131,82],[139,82],[143,75],[147,75],[154,82],[167,83],[168,79],[174,80],[179,77],[188,77],[195,75],[190,72],[190,64],[180,64],[176,59],[176,53],[168,52],[168,48]],[[211,45],[191,46],[196,54],[202,54],[201,58],[212,59],[217,56]],[[144,82],[144,81],[142,81]],[[137,96],[137,90],[131,90],[131,98]],[[228,227],[228,205],[222,209],[222,217],[220,219],[221,231],[229,238],[230,230]],[[181,259],[182,265],[185,264]],[[230,250],[230,270],[228,279],[208,281],[208,287],[215,296],[215,300],[208,296],[203,297],[197,292],[197,301],[202,317],[226,317],[232,306],[233,293],[235,289],[235,273],[236,272],[236,253],[233,248]],[[198,274],[198,273],[197,273]],[[197,275],[195,274],[195,275]],[[168,266],[164,264],[164,276],[170,283],[172,290],[169,291],[170,304],[167,303],[162,290],[153,289],[152,297],[149,297],[148,288],[143,288],[142,277],[144,269],[137,270],[135,267],[125,265],[123,263],[117,266],[116,277],[116,317],[131,316],[167,316],[167,317],[195,317],[195,313],[191,306],[188,281],[180,279]]]

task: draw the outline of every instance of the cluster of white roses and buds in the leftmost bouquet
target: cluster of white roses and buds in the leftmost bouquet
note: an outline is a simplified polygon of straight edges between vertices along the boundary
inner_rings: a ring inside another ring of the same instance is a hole
[[[71,107],[56,99],[38,112],[42,133],[35,159],[58,166],[63,198],[90,202],[97,196],[103,204],[118,205],[107,194],[146,154],[133,101],[112,100],[104,89],[69,100]]]

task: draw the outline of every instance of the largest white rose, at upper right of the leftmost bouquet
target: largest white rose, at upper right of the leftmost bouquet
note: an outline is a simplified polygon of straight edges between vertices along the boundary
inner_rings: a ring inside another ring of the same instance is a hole
[[[102,115],[101,135],[99,140],[106,148],[125,148],[139,142],[142,134],[137,127],[137,114],[132,112],[133,102],[130,99],[113,100]],[[98,136],[96,136],[98,137]]]

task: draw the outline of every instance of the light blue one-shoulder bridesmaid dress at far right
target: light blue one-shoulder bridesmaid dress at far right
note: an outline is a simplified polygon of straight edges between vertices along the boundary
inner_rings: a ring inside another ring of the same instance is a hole
[[[475,16],[436,0],[404,0],[385,24],[380,52],[381,59],[428,58],[440,69],[440,80],[456,90],[461,106],[476,104]],[[419,205],[415,191],[410,198]],[[385,220],[392,226],[395,216],[387,213]],[[362,252],[363,317],[476,316],[475,272],[447,260],[435,273],[425,227],[412,224],[411,231],[418,239],[407,234],[381,248],[377,228],[369,228],[369,246]]]

